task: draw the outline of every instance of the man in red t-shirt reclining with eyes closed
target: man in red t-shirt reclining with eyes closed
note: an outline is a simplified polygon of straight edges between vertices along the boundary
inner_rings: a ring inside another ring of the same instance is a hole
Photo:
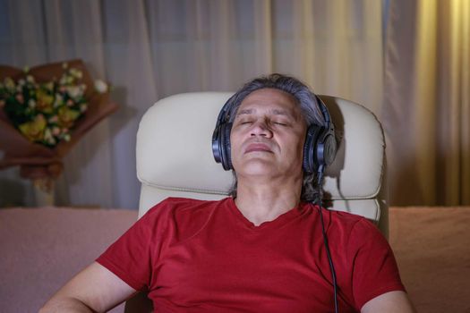
[[[247,83],[228,100],[229,141],[216,156],[235,171],[233,197],[162,201],[43,311],[105,311],[146,291],[158,312],[332,312],[331,259],[339,312],[413,312],[375,226],[305,201],[318,196],[305,137],[324,118],[294,78]]]

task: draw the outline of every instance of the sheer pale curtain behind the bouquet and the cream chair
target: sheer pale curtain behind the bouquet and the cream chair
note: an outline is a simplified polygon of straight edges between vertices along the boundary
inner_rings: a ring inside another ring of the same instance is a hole
[[[135,134],[158,98],[235,90],[269,72],[382,108],[376,0],[0,0],[0,63],[80,57],[108,80],[119,111],[65,159],[58,205],[138,207]],[[0,172],[0,206],[33,205],[29,182]]]

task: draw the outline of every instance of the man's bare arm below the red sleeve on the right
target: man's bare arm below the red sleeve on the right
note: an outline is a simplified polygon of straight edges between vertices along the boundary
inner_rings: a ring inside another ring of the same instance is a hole
[[[361,313],[413,313],[414,308],[406,292],[387,292],[367,301]]]

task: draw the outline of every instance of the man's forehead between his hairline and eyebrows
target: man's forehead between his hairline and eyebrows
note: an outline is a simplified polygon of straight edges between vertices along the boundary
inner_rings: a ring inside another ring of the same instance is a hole
[[[258,110],[270,110],[273,113],[301,116],[297,99],[279,89],[258,89],[246,96],[238,107],[238,114],[248,114]]]

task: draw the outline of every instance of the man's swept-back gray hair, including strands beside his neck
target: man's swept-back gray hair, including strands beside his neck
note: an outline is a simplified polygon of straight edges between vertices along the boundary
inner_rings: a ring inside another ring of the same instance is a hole
[[[312,90],[302,81],[279,73],[273,73],[251,80],[245,83],[234,96],[230,97],[227,101],[227,115],[230,122],[234,121],[236,112],[244,101],[244,98],[259,89],[279,89],[292,95],[300,106],[307,128],[312,124],[325,126],[326,122],[323,118],[323,114],[321,114],[320,105]],[[233,171],[233,173],[234,184],[230,189],[230,195],[236,198],[237,178],[235,171]],[[316,178],[317,173],[306,173],[303,171],[302,201],[315,201],[318,199],[319,190]]]

